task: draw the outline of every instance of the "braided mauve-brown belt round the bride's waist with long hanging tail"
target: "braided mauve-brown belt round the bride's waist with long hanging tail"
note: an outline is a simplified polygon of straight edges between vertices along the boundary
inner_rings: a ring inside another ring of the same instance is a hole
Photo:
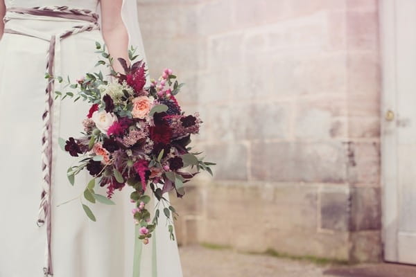
[[[44,33],[35,30],[27,30],[19,27],[10,29],[5,28],[4,33],[15,35],[26,35],[28,37],[36,37],[49,42],[49,51],[47,53],[46,70],[50,76],[54,76],[55,53],[60,50],[60,41],[70,35],[76,35],[85,31],[99,30],[98,15],[90,10],[71,9],[67,6],[62,7],[35,7],[35,8],[8,8],[6,17],[3,19],[8,22],[12,19],[19,19],[19,15],[35,15],[42,17],[54,17],[63,19],[75,19],[87,21],[85,24],[73,26],[63,33],[55,34],[49,37]],[[21,17],[20,17],[21,18]],[[57,123],[53,120],[51,112],[53,107],[58,107],[59,101],[53,101],[54,80],[49,78],[45,90],[45,110],[42,114],[42,193],[39,207],[39,215],[37,226],[43,226],[46,222],[46,249],[45,249],[45,267],[43,268],[44,276],[53,276],[52,259],[51,259],[51,176],[52,176],[52,159],[53,159],[53,132],[52,127]],[[58,109],[55,109],[57,112]],[[54,126],[55,127],[55,126]]]

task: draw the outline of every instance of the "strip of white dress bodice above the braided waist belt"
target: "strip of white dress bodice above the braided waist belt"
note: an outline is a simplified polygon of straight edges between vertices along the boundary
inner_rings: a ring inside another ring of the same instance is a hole
[[[6,0],[6,7],[34,8],[44,6],[68,6],[96,11],[99,0]]]

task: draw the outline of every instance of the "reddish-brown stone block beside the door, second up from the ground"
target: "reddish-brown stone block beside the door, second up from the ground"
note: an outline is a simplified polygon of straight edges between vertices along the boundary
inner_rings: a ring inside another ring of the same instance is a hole
[[[351,188],[351,231],[381,230],[380,188]]]

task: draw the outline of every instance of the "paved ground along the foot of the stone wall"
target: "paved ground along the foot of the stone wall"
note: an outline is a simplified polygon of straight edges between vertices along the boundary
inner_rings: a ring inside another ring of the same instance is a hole
[[[416,277],[416,267],[405,265],[331,267],[199,246],[181,247],[180,253],[184,277]]]

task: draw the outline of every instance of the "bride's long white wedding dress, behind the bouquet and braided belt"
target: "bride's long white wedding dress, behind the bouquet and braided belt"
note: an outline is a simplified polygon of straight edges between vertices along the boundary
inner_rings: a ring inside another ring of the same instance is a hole
[[[37,6],[69,6],[94,12],[99,9],[98,0],[6,0],[7,8]],[[5,33],[0,41],[0,277],[44,276],[46,224],[37,226],[36,222],[42,192],[42,113],[49,42],[39,37],[51,37],[85,22],[10,12],[6,17],[10,17],[6,28],[26,35]],[[128,20],[131,18],[125,18],[125,22]],[[135,40],[131,36],[130,33],[130,42]],[[76,80],[86,72],[95,72],[95,42],[103,42],[100,30],[56,42],[56,75],[69,75]],[[140,44],[139,54],[144,56],[141,37],[136,37],[136,43]],[[89,180],[87,172],[81,172],[76,184],[69,184],[67,168],[76,159],[60,150],[57,143],[58,137],[78,136],[88,109],[86,102],[73,103],[70,99],[55,100],[53,105],[53,276],[181,277],[177,243],[169,239],[163,217],[150,243],[137,243],[130,213],[130,187],[116,190],[115,206],[83,200],[94,211],[96,222],[87,218],[78,199],[58,206],[80,195]],[[105,188],[96,186],[96,193],[106,195]]]

